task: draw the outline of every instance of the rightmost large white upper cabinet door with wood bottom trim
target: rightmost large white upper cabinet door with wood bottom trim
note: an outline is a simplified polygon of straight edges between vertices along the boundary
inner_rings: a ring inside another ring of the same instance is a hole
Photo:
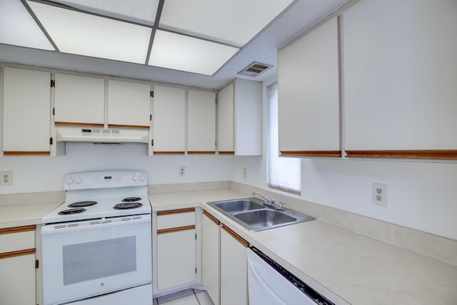
[[[436,150],[457,159],[456,12],[457,1],[427,0],[360,1],[344,11],[348,156],[404,150],[433,159]]]

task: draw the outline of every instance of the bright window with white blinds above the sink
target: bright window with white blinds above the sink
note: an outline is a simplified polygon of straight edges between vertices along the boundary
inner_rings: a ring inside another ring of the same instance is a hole
[[[301,159],[279,157],[278,84],[266,89],[268,99],[268,186],[292,194],[301,194]]]

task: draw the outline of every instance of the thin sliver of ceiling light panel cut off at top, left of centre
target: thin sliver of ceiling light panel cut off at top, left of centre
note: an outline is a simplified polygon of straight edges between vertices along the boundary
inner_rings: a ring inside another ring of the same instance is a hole
[[[154,25],[159,8],[159,0],[53,0],[53,2],[149,26]]]

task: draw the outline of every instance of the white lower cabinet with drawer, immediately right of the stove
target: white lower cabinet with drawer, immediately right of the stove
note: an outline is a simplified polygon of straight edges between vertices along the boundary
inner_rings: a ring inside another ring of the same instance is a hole
[[[196,282],[195,219],[194,208],[157,212],[154,294]]]

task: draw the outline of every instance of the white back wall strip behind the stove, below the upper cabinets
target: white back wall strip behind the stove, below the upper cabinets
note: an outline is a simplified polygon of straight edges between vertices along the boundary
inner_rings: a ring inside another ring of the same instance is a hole
[[[61,191],[64,175],[79,171],[124,169],[146,171],[149,184],[177,184],[231,179],[233,156],[146,156],[145,144],[96,146],[66,144],[66,156],[0,157],[0,171],[13,171],[13,186],[0,194]],[[186,166],[186,176],[179,176]]]

